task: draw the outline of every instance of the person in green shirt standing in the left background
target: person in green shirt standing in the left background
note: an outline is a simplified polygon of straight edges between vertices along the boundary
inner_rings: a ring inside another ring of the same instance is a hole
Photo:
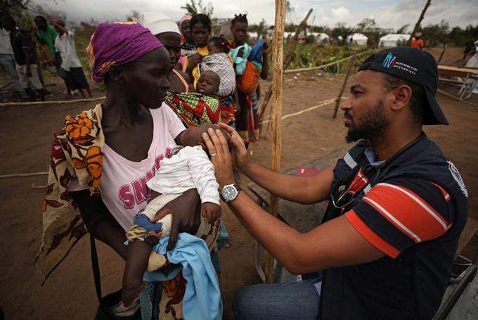
[[[60,55],[55,51],[55,39],[56,37],[58,37],[58,32],[56,32],[55,27],[53,27],[53,25],[49,25],[43,15],[37,15],[34,18],[34,22],[35,25],[37,25],[37,32],[34,32],[35,36],[37,37],[40,44],[46,44],[46,46],[48,46],[51,56],[49,63],[54,63],[54,65],[56,66],[56,72],[58,72],[58,75],[63,79],[63,82],[65,82],[65,87],[67,91],[65,98],[71,98],[72,89],[67,82],[67,73],[60,67],[61,58]]]

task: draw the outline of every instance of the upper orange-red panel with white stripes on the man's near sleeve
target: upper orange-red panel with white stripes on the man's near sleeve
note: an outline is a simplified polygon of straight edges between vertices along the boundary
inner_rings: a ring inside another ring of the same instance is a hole
[[[403,186],[377,184],[363,200],[415,242],[431,240],[446,232],[446,220],[420,196]]]

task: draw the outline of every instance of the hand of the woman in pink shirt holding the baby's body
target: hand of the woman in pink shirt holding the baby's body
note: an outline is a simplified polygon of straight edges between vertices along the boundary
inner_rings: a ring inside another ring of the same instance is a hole
[[[195,234],[201,224],[201,199],[196,189],[190,189],[178,198],[169,201],[159,210],[150,222],[158,222],[165,215],[172,215],[171,233],[167,243],[167,251],[173,250],[178,241],[178,233]]]

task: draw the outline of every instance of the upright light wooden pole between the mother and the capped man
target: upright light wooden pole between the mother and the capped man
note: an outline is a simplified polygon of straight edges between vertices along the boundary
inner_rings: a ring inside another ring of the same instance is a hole
[[[274,37],[272,41],[272,169],[280,171],[280,151],[281,151],[281,132],[280,125],[282,120],[282,89],[283,89],[283,46],[284,46],[284,26],[285,26],[285,0],[276,0],[276,27],[274,28]],[[271,205],[269,210],[273,217],[277,217],[278,198],[271,195]],[[273,282],[273,257],[270,252],[266,252],[266,283]]]

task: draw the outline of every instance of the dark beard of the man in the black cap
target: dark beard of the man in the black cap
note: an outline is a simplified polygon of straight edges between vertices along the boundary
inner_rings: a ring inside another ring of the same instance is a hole
[[[383,139],[385,137],[385,128],[388,124],[384,111],[383,99],[380,98],[375,107],[368,110],[360,117],[360,126],[356,126],[354,118],[347,115],[346,112],[347,118],[351,120],[351,126],[347,132],[347,136],[345,136],[345,140],[347,142],[352,142],[359,139],[366,139],[377,143],[377,141]]]

